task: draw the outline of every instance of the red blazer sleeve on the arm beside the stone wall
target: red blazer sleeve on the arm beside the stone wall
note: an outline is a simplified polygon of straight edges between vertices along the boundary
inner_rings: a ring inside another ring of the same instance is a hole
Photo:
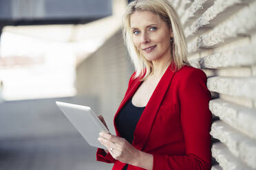
[[[211,169],[211,93],[206,87],[206,81],[207,77],[200,69],[195,69],[182,78],[178,94],[186,155],[153,154],[153,170]]]

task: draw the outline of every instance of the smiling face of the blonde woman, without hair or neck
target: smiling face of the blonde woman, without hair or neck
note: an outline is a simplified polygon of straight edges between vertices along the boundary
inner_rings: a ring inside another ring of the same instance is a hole
[[[171,32],[167,23],[149,11],[131,14],[133,42],[138,51],[149,61],[171,57]]]

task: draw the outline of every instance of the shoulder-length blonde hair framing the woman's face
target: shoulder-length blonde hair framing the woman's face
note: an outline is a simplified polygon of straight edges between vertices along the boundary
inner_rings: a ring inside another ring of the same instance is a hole
[[[132,1],[127,5],[125,14],[122,17],[122,34],[125,40],[125,45],[129,51],[132,62],[136,70],[134,77],[140,77],[144,73],[142,80],[145,80],[147,76],[153,73],[153,64],[148,61],[142,54],[139,53],[138,49],[134,45],[132,40],[131,31],[131,14],[136,11],[149,11],[160,16],[162,21],[166,22],[169,28],[173,32],[173,50],[172,50],[172,61],[174,62],[175,68],[173,71],[178,71],[183,65],[189,65],[186,58],[187,46],[186,39],[182,30],[182,25],[178,18],[178,14],[175,12],[169,1],[167,0],[137,0]],[[146,72],[145,72],[146,71]]]

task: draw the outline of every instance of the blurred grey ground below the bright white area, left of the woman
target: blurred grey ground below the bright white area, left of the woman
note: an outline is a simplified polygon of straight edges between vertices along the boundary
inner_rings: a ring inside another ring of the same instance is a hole
[[[96,148],[87,144],[54,101],[0,104],[0,170],[110,170],[113,165],[96,161]]]

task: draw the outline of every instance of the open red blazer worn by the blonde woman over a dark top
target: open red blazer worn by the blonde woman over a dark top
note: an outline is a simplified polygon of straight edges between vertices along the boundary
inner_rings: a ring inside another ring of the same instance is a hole
[[[131,75],[127,92],[114,117],[140,85]],[[211,93],[206,87],[207,77],[200,69],[183,66],[177,72],[171,65],[154,90],[134,132],[132,145],[153,155],[153,170],[211,169]],[[103,149],[96,159],[114,163],[120,170],[125,163],[115,160]],[[142,169],[128,166],[129,169]]]

